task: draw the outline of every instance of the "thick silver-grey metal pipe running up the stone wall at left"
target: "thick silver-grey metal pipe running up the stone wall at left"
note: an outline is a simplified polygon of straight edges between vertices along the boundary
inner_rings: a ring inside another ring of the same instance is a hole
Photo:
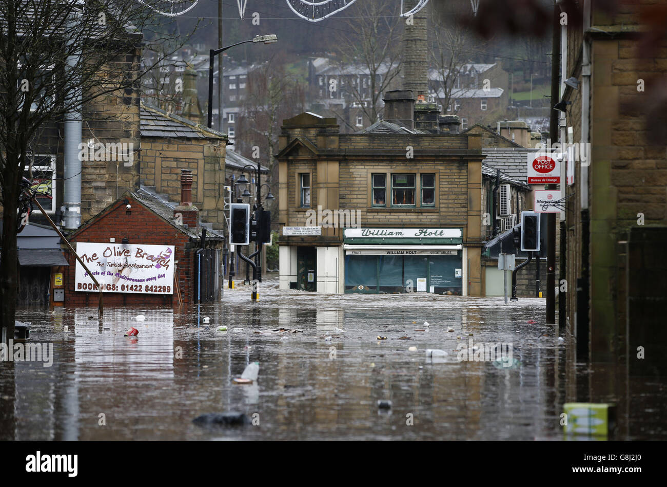
[[[79,16],[79,11],[70,15]],[[69,21],[72,25],[73,22]],[[63,221],[65,228],[79,228],[81,225],[81,160],[79,160],[79,144],[81,144],[81,86],[76,70],[81,61],[81,48],[77,47],[72,55],[67,57],[65,70],[69,79],[72,79],[73,88],[65,95],[65,103],[69,106],[65,114],[65,183],[63,194]]]

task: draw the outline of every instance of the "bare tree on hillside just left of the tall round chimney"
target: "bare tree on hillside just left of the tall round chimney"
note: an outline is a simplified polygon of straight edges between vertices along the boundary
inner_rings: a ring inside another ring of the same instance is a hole
[[[342,90],[346,103],[357,102],[371,123],[382,114],[382,96],[401,71],[403,23],[399,5],[398,2],[358,2],[348,10],[349,28],[337,34],[336,43],[341,53],[338,71],[342,73],[340,78],[347,78],[348,82],[344,86],[338,82],[335,88]],[[350,35],[349,31],[357,35]],[[364,78],[368,79],[366,86],[362,82]]]

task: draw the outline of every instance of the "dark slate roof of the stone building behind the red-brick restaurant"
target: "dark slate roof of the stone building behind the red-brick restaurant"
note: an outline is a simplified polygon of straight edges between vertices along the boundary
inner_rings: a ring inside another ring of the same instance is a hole
[[[167,114],[164,110],[148,106],[141,102],[141,117],[139,120],[141,137],[165,137],[206,139],[227,138],[225,134],[211,128],[195,124],[187,118],[175,114]]]

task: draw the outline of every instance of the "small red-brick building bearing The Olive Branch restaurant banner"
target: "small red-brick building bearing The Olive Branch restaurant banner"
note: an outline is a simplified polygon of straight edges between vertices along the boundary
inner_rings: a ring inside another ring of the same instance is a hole
[[[183,170],[179,204],[145,188],[125,192],[67,237],[91,273],[99,272],[105,305],[171,307],[179,296],[185,305],[219,299],[224,238],[199,220],[191,181]],[[65,306],[95,306],[99,293],[92,281],[71,253],[67,261]]]

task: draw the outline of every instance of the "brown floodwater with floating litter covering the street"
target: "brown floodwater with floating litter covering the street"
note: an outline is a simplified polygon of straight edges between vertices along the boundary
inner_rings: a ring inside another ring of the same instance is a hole
[[[563,438],[568,342],[544,325],[543,300],[321,295],[279,291],[275,279],[261,285],[258,303],[249,293],[225,289],[199,311],[106,308],[101,323],[95,308],[19,309],[17,319],[32,323],[29,343],[53,342],[53,365],[2,364],[0,438]],[[217,331],[222,325],[227,331]],[[132,326],[138,337],[124,337]],[[278,328],[303,333],[271,333]],[[512,366],[459,361],[458,344],[471,339],[512,345]],[[429,359],[426,349],[448,355]],[[232,382],[255,361],[255,383]],[[664,399],[664,388],[651,397]],[[391,408],[379,409],[381,399]],[[192,422],[220,412],[255,426]],[[664,424],[644,434],[664,435]]]

